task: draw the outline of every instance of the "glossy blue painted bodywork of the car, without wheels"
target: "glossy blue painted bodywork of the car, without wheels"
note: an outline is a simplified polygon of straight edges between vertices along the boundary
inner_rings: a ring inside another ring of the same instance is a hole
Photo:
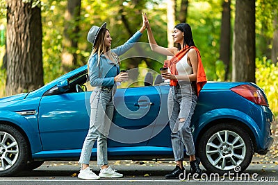
[[[85,73],[86,69],[87,66],[84,66],[71,71],[28,94],[0,99],[0,124],[15,125],[26,135],[33,159],[79,157],[89,127],[92,91],[54,95],[47,93],[60,80],[71,79],[72,76]],[[195,142],[215,121],[229,120],[238,121],[250,129],[257,152],[270,148],[273,141],[270,136],[273,116],[269,107],[256,105],[230,90],[238,85],[250,84],[206,83],[198,97],[192,119]],[[172,155],[170,127],[167,124],[169,88],[169,85],[161,84],[117,89],[108,155],[149,155],[154,158]],[[33,114],[22,115],[22,112],[29,111]],[[92,150],[92,157],[95,156],[96,148]]]

